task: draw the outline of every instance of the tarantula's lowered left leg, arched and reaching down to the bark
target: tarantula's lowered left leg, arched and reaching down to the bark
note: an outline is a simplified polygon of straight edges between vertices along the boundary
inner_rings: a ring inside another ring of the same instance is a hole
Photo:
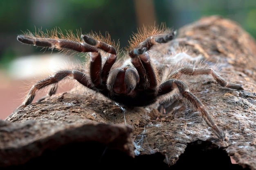
[[[36,84],[34,84],[31,89],[29,90],[25,100],[22,102],[22,105],[20,105],[16,111],[19,111],[20,109],[26,107],[27,105],[31,104],[34,97],[36,96],[36,92],[40,89],[43,89],[44,87],[47,87],[49,85],[52,85],[52,88],[48,95],[52,95],[56,92],[57,89],[57,83],[61,81],[63,78],[67,76],[72,76],[74,79],[79,81],[82,85],[85,87],[88,87],[90,89],[94,89],[92,84],[90,83],[90,78],[85,73],[78,71],[78,70],[60,70],[53,74],[52,76],[49,76],[48,78],[45,78],[43,80],[38,81]],[[43,98],[44,99],[44,98]],[[15,111],[15,112],[16,112]]]

